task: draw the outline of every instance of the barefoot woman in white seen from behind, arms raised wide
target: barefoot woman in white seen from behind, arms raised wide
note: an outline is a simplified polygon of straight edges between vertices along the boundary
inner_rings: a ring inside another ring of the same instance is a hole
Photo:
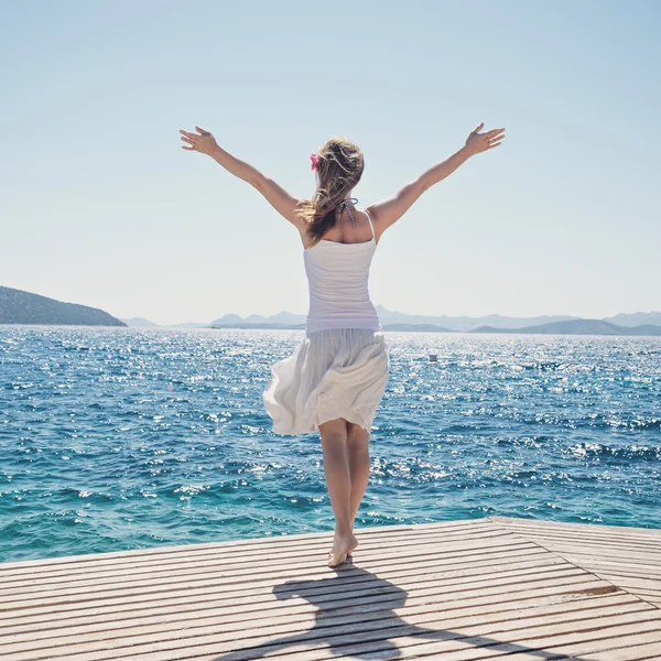
[[[505,129],[468,134],[452,156],[424,172],[394,197],[351,209],[362,176],[362,152],[351,141],[332,138],[310,158],[316,191],[297,199],[261,172],[220,149],[209,131],[183,133],[189,147],[252,184],[300,232],[310,285],[305,338],[271,367],[262,398],[279,434],[317,431],[324,473],[335,514],[328,566],[345,562],[358,545],[354,519],[369,479],[369,432],[386,386],[390,361],[368,274],[381,235],[431,186],[474,154],[498,147]]]

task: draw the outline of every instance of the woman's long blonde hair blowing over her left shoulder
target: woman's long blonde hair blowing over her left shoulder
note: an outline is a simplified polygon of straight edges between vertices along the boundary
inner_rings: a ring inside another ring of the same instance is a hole
[[[318,184],[310,199],[301,201],[301,217],[308,223],[307,236],[313,245],[337,220],[337,207],[347,193],[360,181],[365,169],[365,159],[358,147],[335,136],[327,140],[317,151]]]

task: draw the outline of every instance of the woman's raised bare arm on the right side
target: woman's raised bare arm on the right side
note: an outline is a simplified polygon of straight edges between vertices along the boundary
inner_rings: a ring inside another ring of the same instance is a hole
[[[407,184],[394,197],[368,207],[375,218],[376,226],[378,226],[379,235],[399,220],[427,188],[449,176],[470,156],[500,144],[505,138],[505,129],[494,129],[486,133],[479,133],[478,131],[484,126],[484,123],[480,123],[474,131],[470,131],[464,147],[452,156],[423,172],[415,181]]]

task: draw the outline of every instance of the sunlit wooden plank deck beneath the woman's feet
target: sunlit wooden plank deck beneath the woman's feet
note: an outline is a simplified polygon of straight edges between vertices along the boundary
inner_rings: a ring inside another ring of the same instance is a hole
[[[661,660],[661,530],[501,517],[0,564],[0,659]]]

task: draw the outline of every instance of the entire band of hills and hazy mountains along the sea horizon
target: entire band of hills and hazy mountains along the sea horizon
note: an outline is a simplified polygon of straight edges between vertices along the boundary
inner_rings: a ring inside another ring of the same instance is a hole
[[[568,315],[510,317],[497,314],[481,317],[412,315],[377,305],[383,330],[427,333],[542,333],[568,335],[661,335],[661,312],[618,314],[603,319]],[[62,303],[20,290],[0,286],[0,324],[65,324],[88,326],[163,327],[143,317],[119,319],[74,303]],[[210,324],[186,323],[178,328],[283,328],[304,329],[305,315],[282,311],[271,316],[226,314]]]

